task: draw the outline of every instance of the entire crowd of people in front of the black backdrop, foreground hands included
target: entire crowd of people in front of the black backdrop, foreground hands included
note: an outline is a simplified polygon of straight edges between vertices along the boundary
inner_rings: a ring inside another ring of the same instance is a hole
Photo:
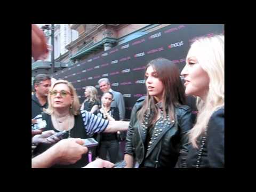
[[[35,60],[49,53],[42,33],[32,25]],[[126,168],[225,167],[224,68],[223,35],[196,39],[181,73],[168,59],[149,61],[147,94],[134,104],[130,122],[124,121],[123,95],[111,89],[108,78],[98,81],[101,99],[94,86],[86,86],[85,100],[79,103],[70,82],[37,75],[32,95],[32,167],[111,168],[120,160]],[[188,96],[196,98],[196,119]],[[61,131],[66,131],[64,139],[54,136]],[[118,140],[121,133],[126,137],[124,151]],[[83,146],[87,138],[99,145]]]

